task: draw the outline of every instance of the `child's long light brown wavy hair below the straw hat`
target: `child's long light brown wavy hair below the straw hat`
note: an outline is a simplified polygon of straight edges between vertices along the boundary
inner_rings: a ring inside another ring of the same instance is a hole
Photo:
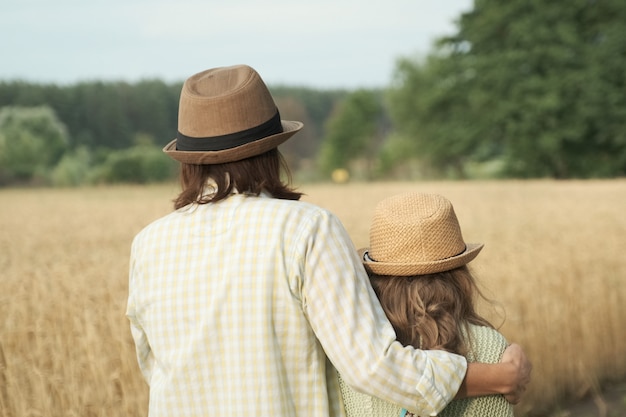
[[[492,327],[475,308],[475,296],[487,300],[466,265],[411,277],[370,273],[372,287],[404,346],[466,355],[468,324]],[[490,301],[490,300],[487,300]]]

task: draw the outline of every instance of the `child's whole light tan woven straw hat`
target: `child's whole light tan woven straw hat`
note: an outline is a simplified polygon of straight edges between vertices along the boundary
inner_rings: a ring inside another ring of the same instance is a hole
[[[411,276],[448,271],[478,255],[482,243],[465,243],[450,201],[409,192],[375,208],[363,265],[378,275]]]

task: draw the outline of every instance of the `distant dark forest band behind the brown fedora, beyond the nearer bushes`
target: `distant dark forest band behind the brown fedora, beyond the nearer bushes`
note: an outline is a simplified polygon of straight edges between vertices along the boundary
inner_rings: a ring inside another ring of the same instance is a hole
[[[0,108],[50,107],[68,131],[69,147],[124,149],[138,138],[165,145],[177,131],[182,82],[160,80],[82,82],[74,85],[0,82]],[[319,142],[330,112],[347,92],[269,87],[284,119],[305,121],[311,142]],[[319,143],[295,146],[312,157]]]

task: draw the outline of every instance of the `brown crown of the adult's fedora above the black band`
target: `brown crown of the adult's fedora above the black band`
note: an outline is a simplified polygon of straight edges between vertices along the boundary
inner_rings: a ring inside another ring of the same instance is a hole
[[[213,68],[183,84],[178,131],[191,138],[219,137],[262,125],[276,112],[267,86],[253,68]]]

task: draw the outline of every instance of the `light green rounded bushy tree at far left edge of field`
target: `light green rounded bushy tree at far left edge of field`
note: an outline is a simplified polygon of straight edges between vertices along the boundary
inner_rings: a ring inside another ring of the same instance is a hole
[[[0,109],[0,183],[47,182],[68,144],[65,126],[47,107]]]

